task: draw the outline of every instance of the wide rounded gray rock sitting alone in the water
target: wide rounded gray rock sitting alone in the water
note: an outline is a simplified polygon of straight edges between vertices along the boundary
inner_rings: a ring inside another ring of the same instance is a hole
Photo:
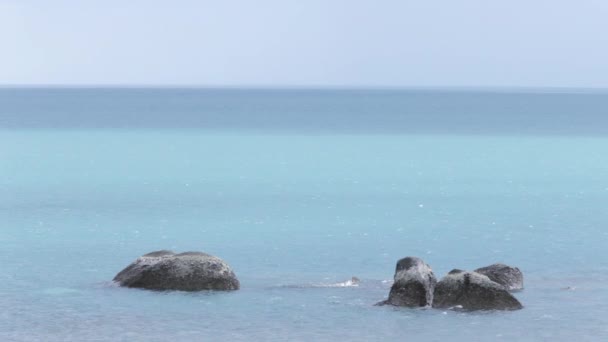
[[[222,259],[200,252],[157,251],[143,255],[120,271],[121,286],[149,290],[238,290],[239,281]]]

